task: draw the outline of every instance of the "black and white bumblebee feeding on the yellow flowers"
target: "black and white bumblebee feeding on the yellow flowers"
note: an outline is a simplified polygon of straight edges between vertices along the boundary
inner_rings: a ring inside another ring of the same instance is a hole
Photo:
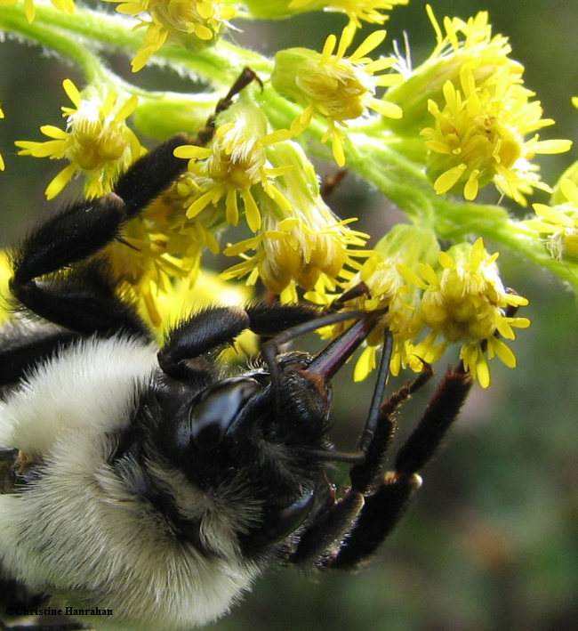
[[[0,337],[4,599],[11,587],[20,603],[112,611],[83,618],[95,628],[203,626],[273,563],[356,568],[470,389],[449,371],[386,473],[397,406],[429,375],[387,398],[389,336],[356,449],[328,439],[330,380],[378,314],[347,311],[345,299],[323,313],[214,306],[159,348],[96,255],[181,173],[183,142],[198,140],[159,145],[113,192],[65,207],[12,254],[21,313]],[[338,320],[352,325],[317,356],[280,352]],[[261,368],[223,374],[217,353],[247,328],[267,340]],[[342,493],[328,482],[332,461],[350,464]]]

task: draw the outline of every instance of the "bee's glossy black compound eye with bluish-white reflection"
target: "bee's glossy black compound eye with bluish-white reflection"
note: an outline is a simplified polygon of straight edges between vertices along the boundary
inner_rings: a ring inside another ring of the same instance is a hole
[[[246,401],[259,390],[250,377],[232,377],[201,392],[189,411],[190,438],[197,448],[217,447]]]

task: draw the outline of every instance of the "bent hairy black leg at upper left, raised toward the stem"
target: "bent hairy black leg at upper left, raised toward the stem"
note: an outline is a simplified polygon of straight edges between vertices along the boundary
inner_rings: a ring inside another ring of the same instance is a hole
[[[120,177],[115,192],[67,206],[32,231],[12,255],[12,295],[29,311],[80,334],[123,328],[148,336],[132,305],[116,295],[106,263],[85,259],[120,239],[124,222],[183,170],[186,162],[173,157],[178,144],[182,138],[140,158]],[[73,265],[72,272],[61,271]]]

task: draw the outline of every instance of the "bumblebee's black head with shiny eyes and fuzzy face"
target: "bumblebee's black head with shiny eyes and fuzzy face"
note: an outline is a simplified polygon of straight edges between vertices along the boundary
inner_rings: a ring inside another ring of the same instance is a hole
[[[332,403],[330,385],[309,375],[309,362],[303,353],[280,356],[275,385],[260,368],[198,392],[165,388],[143,462],[152,485],[173,498],[173,513],[187,515],[183,523],[205,520],[214,531],[227,522],[256,553],[300,525],[323,471],[316,454],[328,449]]]

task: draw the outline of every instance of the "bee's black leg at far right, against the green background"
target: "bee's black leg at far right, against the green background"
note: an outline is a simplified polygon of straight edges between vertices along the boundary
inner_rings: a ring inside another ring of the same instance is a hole
[[[327,565],[350,569],[373,554],[404,513],[413,491],[421,486],[418,471],[427,464],[443,441],[466,397],[471,376],[462,367],[449,370],[429,401],[413,433],[394,461],[394,471],[385,475],[375,492],[365,496],[365,504],[338,554]]]

